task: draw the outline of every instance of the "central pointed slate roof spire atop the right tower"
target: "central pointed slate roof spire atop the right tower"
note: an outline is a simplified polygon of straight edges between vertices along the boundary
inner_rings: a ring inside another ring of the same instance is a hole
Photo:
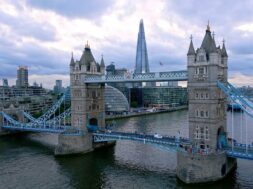
[[[210,26],[209,26],[209,22],[207,25],[207,29],[206,29],[206,34],[205,37],[202,41],[201,47],[205,49],[206,53],[213,53],[216,52],[216,46],[215,46],[215,42],[214,39],[211,35],[211,30],[210,30]]]

